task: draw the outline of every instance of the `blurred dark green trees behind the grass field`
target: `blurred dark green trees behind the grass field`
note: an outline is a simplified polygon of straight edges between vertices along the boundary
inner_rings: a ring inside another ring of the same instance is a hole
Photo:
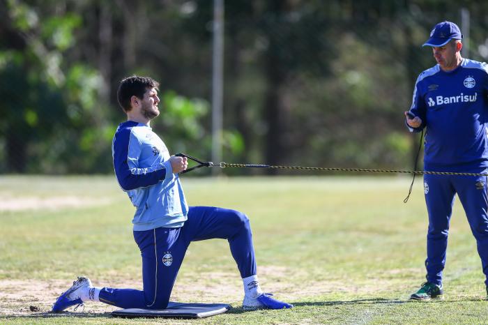
[[[488,57],[488,1],[225,1],[226,162],[411,169],[420,45],[462,25]],[[467,16],[466,16],[467,15]],[[0,173],[111,173],[123,77],[160,81],[171,153],[211,153],[213,1],[0,0]],[[205,174],[208,171],[196,174]],[[261,170],[226,169],[252,174]]]

